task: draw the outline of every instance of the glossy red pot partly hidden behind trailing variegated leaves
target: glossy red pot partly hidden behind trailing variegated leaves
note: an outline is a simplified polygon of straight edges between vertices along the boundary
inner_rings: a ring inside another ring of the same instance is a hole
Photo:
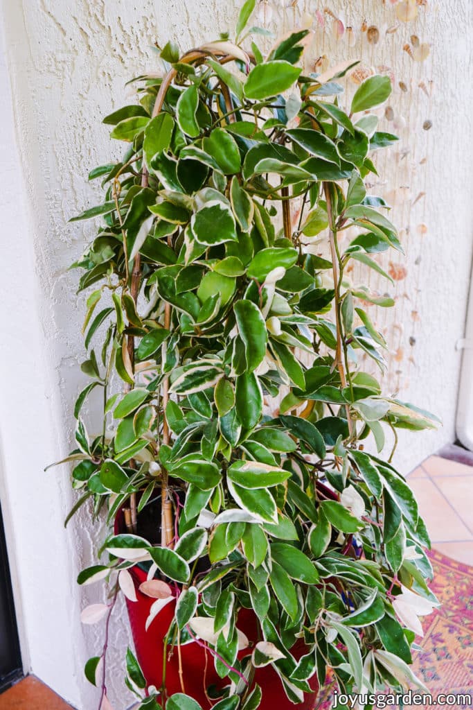
[[[119,513],[115,523],[116,533],[120,532],[122,529],[123,521],[121,517]],[[136,596],[138,599],[138,601],[126,600],[135,652],[148,685],[154,685],[159,690],[162,684],[164,640],[169,625],[174,618],[176,602],[170,601],[163,607],[150,624],[148,631],[146,631],[145,623],[150,613],[150,607],[155,599],[145,596],[145,594],[142,594],[138,589],[140,584],[146,581],[147,578],[143,569],[135,566],[130,569],[130,574],[135,583]],[[252,609],[240,609],[238,613],[238,628],[247,635],[250,642],[256,643],[258,621]],[[304,655],[305,651],[306,645],[302,642],[297,642],[292,649],[292,653],[296,658],[300,658]],[[251,648],[244,650],[240,653],[240,657],[250,652]],[[209,704],[206,698],[205,688],[209,685],[223,688],[225,685],[228,685],[228,680],[223,680],[218,676],[213,665],[211,652],[196,643],[183,645],[181,647],[181,658],[186,693],[196,699],[204,710],[211,708],[211,704]],[[304,702],[296,706],[287,699],[282,687],[282,682],[272,666],[258,668],[255,672],[255,682],[259,684],[262,689],[260,710],[274,710],[275,706],[278,707],[278,710],[294,710],[294,708],[311,710],[315,705],[316,692],[318,691],[316,676],[313,676],[309,681],[314,692],[306,693]],[[172,655],[168,657],[166,663],[166,690],[168,695],[182,692],[179,679],[177,648],[172,650]]]

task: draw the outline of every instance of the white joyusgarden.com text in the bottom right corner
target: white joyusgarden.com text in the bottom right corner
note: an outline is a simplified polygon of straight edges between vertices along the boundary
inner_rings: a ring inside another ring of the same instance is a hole
[[[472,706],[472,696],[464,694],[440,693],[436,698],[430,694],[416,693],[409,690],[406,693],[360,693],[345,694],[335,690],[333,693],[333,710],[417,706],[426,707],[469,707]]]

